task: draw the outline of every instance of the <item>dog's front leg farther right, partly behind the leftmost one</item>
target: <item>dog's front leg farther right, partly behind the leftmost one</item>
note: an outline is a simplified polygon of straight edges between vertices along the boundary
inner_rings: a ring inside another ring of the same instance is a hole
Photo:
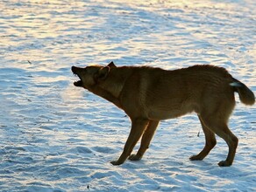
[[[137,154],[132,154],[129,157],[129,160],[131,161],[139,161],[143,154],[145,154],[146,149],[149,147],[150,141],[153,138],[153,134],[155,133],[156,128],[159,125],[159,120],[150,120],[148,126],[146,127],[146,131],[144,132],[141,144],[139,147],[139,151]]]

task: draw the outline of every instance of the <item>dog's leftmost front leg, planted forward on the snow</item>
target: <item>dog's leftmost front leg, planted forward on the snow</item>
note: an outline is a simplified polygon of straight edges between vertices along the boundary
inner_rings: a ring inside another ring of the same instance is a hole
[[[111,161],[112,165],[121,165],[128,158],[128,156],[130,156],[130,154],[132,153],[133,147],[139,141],[139,138],[143,134],[146,126],[148,125],[148,122],[149,120],[145,120],[145,119],[132,120],[131,132],[124,145],[124,151],[120,155],[117,161]]]

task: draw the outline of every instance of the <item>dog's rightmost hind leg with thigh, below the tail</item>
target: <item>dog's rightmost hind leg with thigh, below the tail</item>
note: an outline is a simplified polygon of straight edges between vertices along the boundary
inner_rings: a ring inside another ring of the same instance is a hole
[[[231,133],[231,130],[227,126],[227,122],[225,122],[224,119],[214,116],[202,116],[202,120],[206,127],[209,127],[212,132],[223,138],[229,147],[229,153],[226,160],[220,161],[218,165],[220,167],[231,166],[238,147],[238,138]]]

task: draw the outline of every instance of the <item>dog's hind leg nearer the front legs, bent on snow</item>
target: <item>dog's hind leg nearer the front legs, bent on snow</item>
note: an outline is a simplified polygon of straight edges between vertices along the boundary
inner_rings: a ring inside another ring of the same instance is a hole
[[[210,153],[210,150],[215,147],[217,141],[215,138],[215,134],[208,128],[205,126],[205,124],[203,123],[202,118],[200,117],[200,115],[198,115],[198,118],[201,122],[201,125],[203,127],[203,133],[205,136],[205,146],[203,147],[203,150],[196,155],[192,155],[189,159],[191,161],[198,161],[198,160],[203,160],[204,157],[207,156],[207,154]]]

